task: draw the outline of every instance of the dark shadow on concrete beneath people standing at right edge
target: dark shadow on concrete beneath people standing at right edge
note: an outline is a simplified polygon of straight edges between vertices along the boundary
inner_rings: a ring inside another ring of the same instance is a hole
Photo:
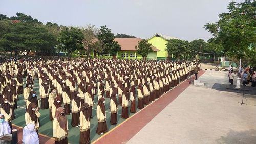
[[[243,93],[244,91],[245,94],[250,94],[252,98],[255,98],[253,97],[253,95],[256,95],[256,87],[251,87],[251,86],[244,87],[243,85],[240,86],[241,87],[240,89],[235,87],[236,87],[235,85],[215,83],[211,88],[215,90],[235,92],[235,93]]]

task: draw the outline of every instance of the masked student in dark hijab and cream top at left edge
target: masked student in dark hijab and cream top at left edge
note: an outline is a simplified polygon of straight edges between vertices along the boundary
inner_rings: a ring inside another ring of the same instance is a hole
[[[9,123],[9,126],[12,131],[12,107],[8,103],[7,98],[1,99],[1,105],[0,105],[0,113],[5,116],[5,121]]]

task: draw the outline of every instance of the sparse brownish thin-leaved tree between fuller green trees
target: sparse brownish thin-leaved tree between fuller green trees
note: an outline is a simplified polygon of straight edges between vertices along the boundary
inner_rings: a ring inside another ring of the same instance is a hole
[[[98,28],[96,28],[95,25],[87,25],[85,27],[82,27],[81,29],[84,36],[82,43],[86,51],[87,58],[90,57],[90,54],[94,49],[97,49],[97,51],[98,51],[98,48],[103,50],[101,46],[102,43],[95,43],[97,42],[97,33],[98,33]]]

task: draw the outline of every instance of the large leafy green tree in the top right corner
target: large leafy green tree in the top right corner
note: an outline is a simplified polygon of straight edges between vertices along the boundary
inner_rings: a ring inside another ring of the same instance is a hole
[[[230,2],[229,12],[221,13],[216,23],[207,23],[204,28],[214,37],[208,41],[223,47],[223,53],[230,58],[248,57],[248,46],[256,41],[256,1]]]

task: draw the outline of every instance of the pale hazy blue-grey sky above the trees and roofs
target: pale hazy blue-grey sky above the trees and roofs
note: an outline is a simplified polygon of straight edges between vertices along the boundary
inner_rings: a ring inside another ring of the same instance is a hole
[[[156,33],[192,41],[212,37],[203,26],[228,12],[230,0],[1,0],[0,14],[17,12],[42,23],[100,27],[147,39]],[[238,0],[236,2],[244,2]]]

